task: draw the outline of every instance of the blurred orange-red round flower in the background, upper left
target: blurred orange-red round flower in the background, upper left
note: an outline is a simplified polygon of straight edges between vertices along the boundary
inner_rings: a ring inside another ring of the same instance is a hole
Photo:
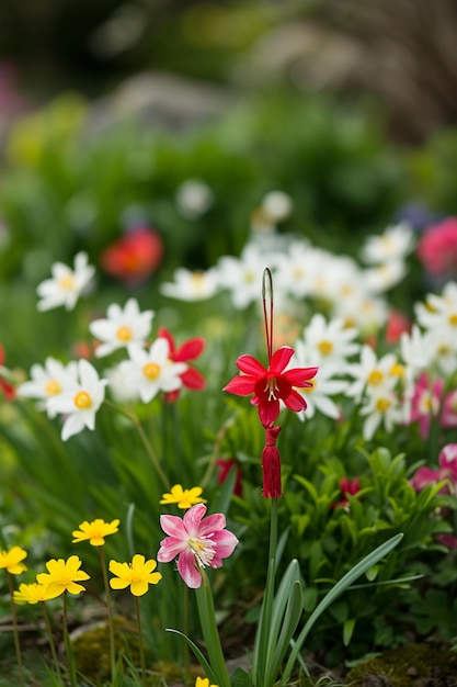
[[[102,268],[123,281],[140,282],[149,277],[163,257],[163,241],[152,229],[134,228],[107,246],[100,256]]]

